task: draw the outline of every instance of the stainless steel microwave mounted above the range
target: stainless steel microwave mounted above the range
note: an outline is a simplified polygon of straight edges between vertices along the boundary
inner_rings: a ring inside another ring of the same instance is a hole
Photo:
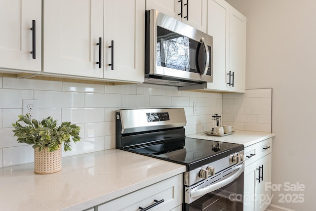
[[[213,38],[155,9],[146,10],[145,83],[188,86],[213,81]]]

